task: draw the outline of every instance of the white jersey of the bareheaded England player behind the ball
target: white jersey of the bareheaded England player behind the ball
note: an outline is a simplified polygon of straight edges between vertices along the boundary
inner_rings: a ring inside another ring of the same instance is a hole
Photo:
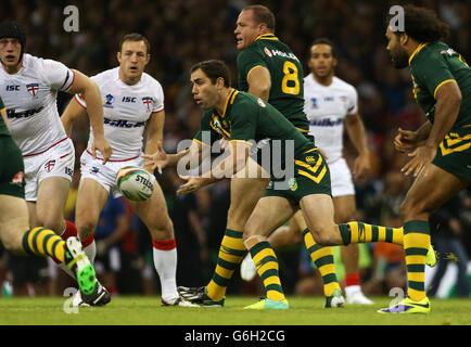
[[[161,83],[143,73],[139,82],[126,85],[119,78],[119,67],[107,69],[91,79],[100,88],[103,100],[104,136],[113,149],[110,159],[126,160],[140,156],[147,120],[152,113],[164,110]],[[81,95],[75,95],[75,99],[87,107]],[[89,153],[92,141],[90,129]]]

